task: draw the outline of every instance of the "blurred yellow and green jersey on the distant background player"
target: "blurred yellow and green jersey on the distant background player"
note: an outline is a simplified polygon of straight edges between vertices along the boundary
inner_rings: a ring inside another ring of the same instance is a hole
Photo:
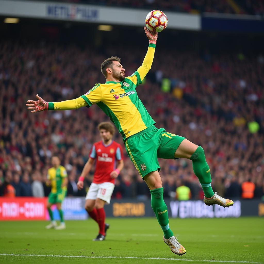
[[[57,193],[61,190],[67,191],[67,186],[62,188],[62,182],[64,178],[67,178],[67,171],[63,166],[59,166],[57,169],[52,167],[48,169],[48,180],[51,181],[51,192]]]

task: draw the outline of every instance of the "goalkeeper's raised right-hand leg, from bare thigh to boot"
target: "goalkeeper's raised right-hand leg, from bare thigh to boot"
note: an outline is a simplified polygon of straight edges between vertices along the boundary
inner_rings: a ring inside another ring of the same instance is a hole
[[[201,146],[197,146],[189,140],[184,139],[177,148],[174,157],[187,158],[192,161],[194,174],[199,179],[204,191],[204,202],[206,205],[218,204],[224,207],[233,205],[234,202],[232,200],[222,198],[217,192],[214,193],[211,187],[210,168],[205,159],[204,149]]]

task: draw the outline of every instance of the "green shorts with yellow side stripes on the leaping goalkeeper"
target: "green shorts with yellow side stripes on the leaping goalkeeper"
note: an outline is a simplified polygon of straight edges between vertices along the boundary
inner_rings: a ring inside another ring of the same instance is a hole
[[[166,132],[154,125],[130,136],[125,142],[126,152],[134,163],[140,176],[152,171],[159,171],[158,158],[175,159],[174,153],[185,139],[182,136]]]

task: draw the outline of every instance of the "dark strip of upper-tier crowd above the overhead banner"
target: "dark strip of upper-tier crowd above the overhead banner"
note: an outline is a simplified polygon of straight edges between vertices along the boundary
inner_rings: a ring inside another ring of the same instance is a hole
[[[187,12],[187,13],[225,13],[247,14],[264,16],[263,0],[59,0],[68,3],[96,4],[111,7],[133,7],[159,9],[162,11]]]

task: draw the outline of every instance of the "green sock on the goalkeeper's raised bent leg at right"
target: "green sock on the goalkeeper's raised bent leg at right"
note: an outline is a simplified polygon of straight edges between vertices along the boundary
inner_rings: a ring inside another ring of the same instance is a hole
[[[214,191],[211,187],[211,173],[210,168],[206,162],[204,149],[199,146],[194,154],[192,154],[190,160],[192,161],[192,168],[194,169],[194,174],[200,181],[202,189],[204,191],[204,196],[207,198],[214,196]]]

